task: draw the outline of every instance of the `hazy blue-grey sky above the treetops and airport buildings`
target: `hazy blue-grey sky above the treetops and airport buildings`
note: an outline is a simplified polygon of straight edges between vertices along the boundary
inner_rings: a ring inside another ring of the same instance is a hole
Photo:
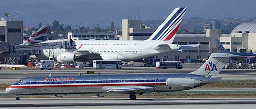
[[[0,4],[0,17],[9,13],[8,20],[23,20],[26,27],[57,20],[64,25],[106,28],[111,22],[120,27],[125,18],[165,19],[177,7],[187,7],[184,18],[256,18],[255,4],[246,0],[8,0]]]

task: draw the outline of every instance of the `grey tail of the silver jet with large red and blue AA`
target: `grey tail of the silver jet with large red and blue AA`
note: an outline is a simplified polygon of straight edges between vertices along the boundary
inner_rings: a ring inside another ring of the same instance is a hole
[[[197,71],[191,74],[202,75],[206,77],[217,76],[221,69],[226,65],[226,62],[237,55],[231,53],[212,53],[210,58]]]

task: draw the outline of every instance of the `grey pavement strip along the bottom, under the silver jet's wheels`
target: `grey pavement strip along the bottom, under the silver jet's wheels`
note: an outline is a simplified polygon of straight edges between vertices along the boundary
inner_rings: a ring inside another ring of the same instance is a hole
[[[0,98],[2,108],[255,108],[256,98]]]

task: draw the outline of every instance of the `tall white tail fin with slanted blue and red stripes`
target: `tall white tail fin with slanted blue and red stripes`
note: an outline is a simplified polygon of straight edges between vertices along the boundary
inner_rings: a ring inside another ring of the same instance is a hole
[[[174,9],[147,41],[168,41],[168,43],[172,43],[185,12],[186,8]]]

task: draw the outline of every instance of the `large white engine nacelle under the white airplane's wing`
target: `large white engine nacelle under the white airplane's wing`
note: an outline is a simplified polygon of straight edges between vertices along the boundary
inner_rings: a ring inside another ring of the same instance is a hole
[[[57,56],[57,62],[58,63],[70,63],[77,60],[77,56],[74,53],[71,52],[65,52],[61,53]]]

